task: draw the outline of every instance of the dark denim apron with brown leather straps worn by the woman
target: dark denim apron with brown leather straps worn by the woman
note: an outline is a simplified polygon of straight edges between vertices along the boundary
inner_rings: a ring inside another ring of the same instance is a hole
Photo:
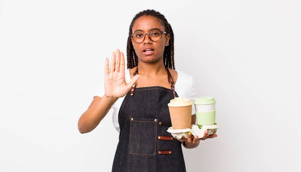
[[[171,126],[168,103],[177,96],[167,71],[172,89],[135,88],[134,84],[124,97],[112,171],[186,171],[181,142],[167,132]]]

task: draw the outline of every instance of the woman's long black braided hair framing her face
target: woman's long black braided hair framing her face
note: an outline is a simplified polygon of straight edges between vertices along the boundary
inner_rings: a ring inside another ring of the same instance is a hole
[[[159,12],[156,12],[155,10],[144,10],[144,11],[136,14],[136,16],[133,18],[133,20],[129,26],[129,33],[128,33],[127,45],[126,45],[127,69],[128,68],[131,69],[138,65],[138,57],[134,51],[134,48],[133,48],[133,45],[131,42],[131,35],[132,35],[132,28],[133,28],[134,22],[141,16],[153,16],[153,17],[159,19],[159,21],[165,28],[165,32],[170,35],[169,46],[165,47],[165,49],[164,49],[164,55],[163,55],[164,59],[163,60],[164,60],[165,66],[175,70],[176,68],[175,68],[175,60],[174,60],[174,57],[175,57],[174,32],[173,32],[172,26],[168,23],[165,16]]]

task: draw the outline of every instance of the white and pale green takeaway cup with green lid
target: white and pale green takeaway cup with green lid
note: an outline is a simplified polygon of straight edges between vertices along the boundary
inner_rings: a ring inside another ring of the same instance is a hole
[[[194,101],[198,125],[213,125],[215,123],[214,97],[198,97]]]

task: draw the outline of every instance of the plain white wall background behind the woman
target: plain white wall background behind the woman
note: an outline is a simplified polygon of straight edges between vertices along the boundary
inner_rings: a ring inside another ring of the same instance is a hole
[[[77,122],[144,9],[175,34],[176,69],[217,100],[218,137],[188,171],[301,171],[300,1],[0,1],[0,171],[110,171],[109,113]]]

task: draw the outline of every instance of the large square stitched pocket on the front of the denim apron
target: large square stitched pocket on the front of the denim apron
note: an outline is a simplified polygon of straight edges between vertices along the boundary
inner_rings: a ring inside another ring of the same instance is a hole
[[[130,117],[129,154],[156,155],[157,118]]]

